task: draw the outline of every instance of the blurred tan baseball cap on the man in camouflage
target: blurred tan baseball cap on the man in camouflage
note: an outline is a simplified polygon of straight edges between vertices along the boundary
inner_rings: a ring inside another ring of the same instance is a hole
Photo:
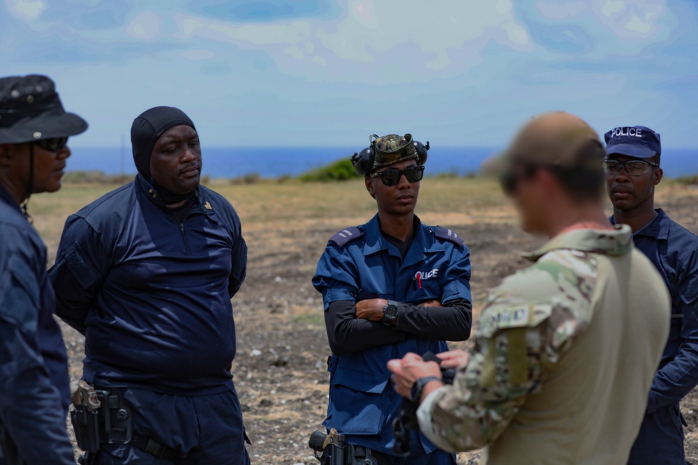
[[[585,144],[599,147],[599,157],[579,159],[579,151]],[[566,112],[549,112],[528,121],[512,144],[503,153],[502,169],[515,163],[559,167],[601,167],[603,145],[590,125],[583,119]]]

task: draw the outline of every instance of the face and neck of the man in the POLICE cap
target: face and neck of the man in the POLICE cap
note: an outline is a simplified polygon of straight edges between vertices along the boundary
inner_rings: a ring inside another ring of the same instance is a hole
[[[634,158],[617,153],[609,155],[609,160],[625,162],[628,160],[645,160],[659,162],[653,158]],[[637,232],[651,222],[657,212],[654,209],[655,186],[662,181],[664,171],[651,167],[645,174],[630,176],[625,169],[617,174],[606,175],[606,190],[613,204],[614,219],[618,223],[628,224],[632,232]]]

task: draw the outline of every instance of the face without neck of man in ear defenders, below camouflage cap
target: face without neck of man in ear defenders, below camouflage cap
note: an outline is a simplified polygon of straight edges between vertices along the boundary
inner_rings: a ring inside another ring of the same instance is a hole
[[[408,169],[416,167],[415,160],[406,160],[395,163],[389,167],[381,168],[376,172],[388,171],[390,169]],[[419,181],[410,183],[406,176],[400,176],[400,181],[396,185],[385,185],[381,181],[380,176],[375,178],[366,178],[366,190],[376,199],[378,211],[382,211],[389,215],[407,215],[415,211],[417,206],[417,197],[419,196]]]

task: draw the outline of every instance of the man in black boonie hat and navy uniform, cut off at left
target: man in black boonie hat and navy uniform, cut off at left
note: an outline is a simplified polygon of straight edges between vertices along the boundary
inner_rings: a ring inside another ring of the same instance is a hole
[[[75,464],[68,358],[27,201],[61,188],[68,137],[84,130],[48,77],[0,78],[0,464]]]

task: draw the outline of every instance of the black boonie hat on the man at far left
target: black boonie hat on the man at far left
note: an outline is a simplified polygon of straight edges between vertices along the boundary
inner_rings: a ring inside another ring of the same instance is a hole
[[[0,78],[0,144],[70,137],[85,130],[87,121],[66,112],[49,77]]]

